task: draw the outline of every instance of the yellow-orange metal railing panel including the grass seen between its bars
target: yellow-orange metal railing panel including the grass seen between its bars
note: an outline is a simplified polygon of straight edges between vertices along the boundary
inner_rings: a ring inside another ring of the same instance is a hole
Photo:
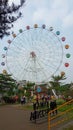
[[[55,127],[71,118],[73,118],[73,99],[64,104],[58,106],[56,109],[49,111],[48,113],[48,130]],[[58,111],[56,115],[52,115],[53,112]]]

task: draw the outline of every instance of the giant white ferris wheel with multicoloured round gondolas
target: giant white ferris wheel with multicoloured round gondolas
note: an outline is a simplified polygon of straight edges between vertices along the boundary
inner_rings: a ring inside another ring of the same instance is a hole
[[[3,49],[4,61],[2,66],[7,66],[14,78],[18,81],[26,80],[35,83],[47,82],[60,68],[63,61],[63,45],[65,37],[59,38],[60,31],[53,32],[53,27],[46,25],[38,27],[26,26]],[[68,49],[69,45],[65,45]],[[66,54],[67,58],[70,54]],[[68,67],[69,63],[65,63]],[[3,70],[5,71],[5,70]],[[63,74],[63,72],[62,72]]]

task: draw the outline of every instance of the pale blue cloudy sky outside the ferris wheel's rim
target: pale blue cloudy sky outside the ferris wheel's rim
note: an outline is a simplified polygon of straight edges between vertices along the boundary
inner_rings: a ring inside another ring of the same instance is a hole
[[[10,0],[10,4],[12,2],[19,4],[20,0]],[[68,53],[71,57],[67,59],[70,66],[63,70],[66,72],[67,81],[73,82],[73,0],[26,0],[21,11],[21,19],[14,23],[13,31],[16,33],[26,25],[33,26],[37,23],[39,26],[45,24],[47,28],[52,26],[55,30],[60,30],[61,36],[66,37],[65,43],[70,45]],[[0,40],[1,53],[3,46],[7,44],[6,41],[6,37]]]

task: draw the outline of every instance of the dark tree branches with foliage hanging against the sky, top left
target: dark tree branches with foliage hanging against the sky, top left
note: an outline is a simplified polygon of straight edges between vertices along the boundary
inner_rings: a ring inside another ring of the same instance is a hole
[[[12,14],[17,12],[24,3],[25,0],[20,0],[20,5],[12,3],[9,6],[8,0],[0,0],[0,38],[3,38],[4,35],[10,35],[8,30],[13,27],[12,23],[20,18],[22,13],[19,12],[16,17]]]

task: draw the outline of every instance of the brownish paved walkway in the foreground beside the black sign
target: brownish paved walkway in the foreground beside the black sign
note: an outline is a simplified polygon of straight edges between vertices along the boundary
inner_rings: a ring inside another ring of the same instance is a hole
[[[14,105],[0,106],[0,130],[48,130],[47,119],[44,122],[39,121],[37,124],[30,122],[30,111],[21,110]],[[73,124],[73,121],[71,122]],[[69,125],[68,123],[65,125]],[[63,130],[53,128],[51,130]]]

